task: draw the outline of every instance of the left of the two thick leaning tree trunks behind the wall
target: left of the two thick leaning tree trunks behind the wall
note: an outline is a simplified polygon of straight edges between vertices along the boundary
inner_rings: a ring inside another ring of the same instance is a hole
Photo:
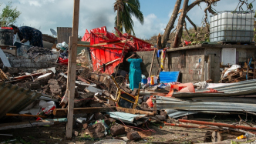
[[[183,5],[182,12],[180,14],[179,22],[177,25],[177,32],[176,32],[175,39],[173,42],[173,48],[177,48],[181,43],[180,41],[181,41],[182,32],[183,32],[183,24],[185,21],[185,17],[187,15],[186,10],[187,10],[188,1],[189,0],[184,0],[184,5]]]

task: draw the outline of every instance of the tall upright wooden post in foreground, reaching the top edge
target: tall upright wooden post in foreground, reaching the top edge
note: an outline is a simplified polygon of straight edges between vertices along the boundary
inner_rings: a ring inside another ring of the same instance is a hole
[[[75,97],[75,81],[76,81],[76,48],[78,40],[78,25],[79,25],[79,3],[80,0],[74,0],[73,22],[72,22],[72,37],[69,38],[69,66],[68,66],[68,83],[67,89],[69,94],[68,105],[68,122],[66,124],[66,139],[72,139],[72,123],[73,109]]]

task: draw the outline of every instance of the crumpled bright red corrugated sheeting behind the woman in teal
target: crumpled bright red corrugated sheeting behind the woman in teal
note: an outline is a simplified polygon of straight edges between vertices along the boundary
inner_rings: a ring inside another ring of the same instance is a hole
[[[91,47],[90,52],[93,61],[93,70],[103,72],[103,64],[106,65],[106,74],[112,74],[116,65],[123,62],[124,55],[128,51],[151,51],[151,44],[143,41],[142,39],[137,39],[136,37],[128,34],[122,34],[117,31],[119,37],[111,32],[107,32],[106,26],[101,28],[94,28],[89,32],[86,29],[86,33],[83,36],[82,41],[90,42],[90,45],[98,44],[97,48]],[[127,42],[126,42],[127,39]],[[133,39],[133,40],[130,40]],[[108,43],[114,44],[108,44]],[[126,42],[126,44],[125,44]],[[126,45],[124,49],[124,54],[122,56],[123,46]],[[120,59],[121,58],[121,59]],[[113,62],[114,61],[114,62]]]

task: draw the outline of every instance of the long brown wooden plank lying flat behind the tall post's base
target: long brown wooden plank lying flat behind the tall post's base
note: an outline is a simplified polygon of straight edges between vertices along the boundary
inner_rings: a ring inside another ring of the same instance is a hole
[[[95,112],[112,112],[116,111],[115,106],[109,107],[88,107],[88,108],[74,108],[73,114],[81,114],[81,113],[95,113]],[[54,109],[54,116],[66,116],[68,113],[68,109]]]

